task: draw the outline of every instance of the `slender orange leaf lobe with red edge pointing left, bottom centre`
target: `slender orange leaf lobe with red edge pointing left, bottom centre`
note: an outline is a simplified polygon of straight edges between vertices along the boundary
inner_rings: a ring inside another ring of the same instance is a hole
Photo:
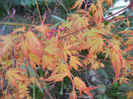
[[[45,81],[53,81],[53,82],[58,82],[58,81],[63,81],[63,79],[68,75],[68,73],[60,73],[56,75],[51,75]]]

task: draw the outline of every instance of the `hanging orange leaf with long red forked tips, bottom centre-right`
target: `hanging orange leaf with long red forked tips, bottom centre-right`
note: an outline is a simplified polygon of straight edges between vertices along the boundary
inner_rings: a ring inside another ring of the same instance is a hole
[[[99,87],[87,87],[85,83],[77,76],[74,77],[74,85],[80,91],[80,95],[82,95],[82,92],[84,92],[87,95],[89,95],[91,98],[93,98],[93,95],[90,93],[90,91],[99,88]]]

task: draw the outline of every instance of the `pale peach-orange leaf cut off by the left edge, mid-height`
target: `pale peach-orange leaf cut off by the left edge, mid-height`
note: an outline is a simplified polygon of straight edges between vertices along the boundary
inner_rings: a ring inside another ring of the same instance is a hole
[[[0,36],[0,56],[4,55],[13,45],[12,36]]]

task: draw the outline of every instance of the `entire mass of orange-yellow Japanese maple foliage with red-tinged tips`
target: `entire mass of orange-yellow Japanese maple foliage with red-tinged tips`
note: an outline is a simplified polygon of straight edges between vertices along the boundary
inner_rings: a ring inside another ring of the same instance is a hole
[[[119,31],[116,34],[112,31],[114,24],[121,20],[126,20],[125,25],[130,27],[128,19],[118,16],[104,24],[103,3],[107,2],[110,6],[113,5],[112,0],[98,0],[96,4],[91,4],[89,10],[80,9],[83,2],[75,2],[71,9],[77,8],[77,14],[69,15],[66,22],[62,22],[57,29],[52,30],[51,25],[42,22],[40,26],[34,26],[33,30],[23,26],[0,36],[0,85],[3,99],[8,99],[10,95],[14,99],[30,99],[28,87],[31,83],[48,94],[43,84],[63,82],[65,77],[70,78],[73,85],[70,99],[77,99],[78,90],[80,95],[83,92],[93,98],[90,90],[98,87],[87,87],[71,71],[103,68],[104,64],[97,58],[100,52],[105,54],[105,60],[110,58],[115,71],[114,82],[120,80],[120,84],[128,84],[127,76],[133,72],[133,57],[128,53],[133,48],[133,31]],[[126,35],[126,41],[118,34]],[[88,55],[81,60],[78,57],[81,56],[79,51],[85,49]],[[37,75],[38,67],[44,70],[44,77]],[[6,81],[8,86],[3,85]],[[5,89],[12,92],[8,94]]]

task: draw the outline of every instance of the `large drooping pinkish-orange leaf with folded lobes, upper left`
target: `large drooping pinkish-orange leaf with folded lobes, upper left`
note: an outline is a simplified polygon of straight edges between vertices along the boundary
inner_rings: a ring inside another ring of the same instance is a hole
[[[27,58],[29,57],[29,52],[32,52],[38,56],[41,55],[41,43],[33,32],[28,31],[23,35],[23,38],[20,39],[21,40],[18,46],[21,48],[22,52]]]

